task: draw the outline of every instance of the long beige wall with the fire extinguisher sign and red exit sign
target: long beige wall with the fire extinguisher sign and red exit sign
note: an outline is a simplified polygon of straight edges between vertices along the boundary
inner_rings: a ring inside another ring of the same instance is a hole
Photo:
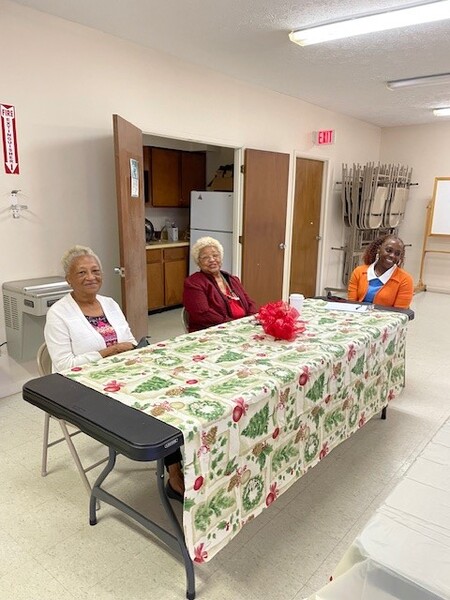
[[[0,283],[59,273],[63,251],[81,243],[102,258],[104,293],[118,297],[113,113],[149,134],[329,159],[323,279],[339,281],[340,253],[329,252],[343,230],[334,182],[342,162],[378,160],[377,127],[7,0],[0,15],[0,102],[16,107],[21,169],[0,174]],[[312,147],[311,132],[331,128],[336,144]],[[13,220],[17,188],[29,211]]]

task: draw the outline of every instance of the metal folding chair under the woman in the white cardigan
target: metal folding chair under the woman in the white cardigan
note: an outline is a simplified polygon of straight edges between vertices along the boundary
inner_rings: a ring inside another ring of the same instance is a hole
[[[38,364],[39,375],[44,376],[44,375],[51,374],[52,361],[51,361],[50,355],[48,353],[47,344],[45,342],[40,346],[40,348],[38,350],[37,364]],[[74,435],[78,435],[79,433],[81,433],[81,431],[79,429],[75,429],[75,431],[69,433],[68,428],[67,428],[67,423],[65,421],[63,421],[62,419],[55,418],[55,421],[58,421],[58,423],[61,427],[64,437],[59,438],[53,442],[49,442],[48,438],[49,438],[49,429],[50,429],[50,419],[51,418],[53,419],[54,417],[50,417],[50,415],[46,413],[45,421],[44,421],[44,440],[43,440],[43,445],[42,445],[42,466],[41,466],[42,477],[45,477],[47,475],[48,449],[65,440],[67,442],[67,445],[69,446],[70,454],[72,455],[72,458],[78,469],[78,472],[80,474],[83,485],[86,488],[87,493],[90,495],[91,494],[91,484],[89,483],[89,480],[86,477],[86,473],[88,471],[90,471],[91,469],[98,467],[98,465],[101,465],[102,463],[106,462],[108,460],[108,458],[105,457],[102,460],[99,460],[96,463],[89,465],[88,467],[83,467],[80,457],[78,456],[78,452],[72,441],[72,437]]]

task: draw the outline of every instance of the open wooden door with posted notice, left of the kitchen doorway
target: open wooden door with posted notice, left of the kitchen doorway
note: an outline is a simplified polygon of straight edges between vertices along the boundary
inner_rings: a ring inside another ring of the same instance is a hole
[[[136,339],[148,333],[142,131],[113,115],[122,308]],[[131,196],[130,159],[139,164],[139,197]]]

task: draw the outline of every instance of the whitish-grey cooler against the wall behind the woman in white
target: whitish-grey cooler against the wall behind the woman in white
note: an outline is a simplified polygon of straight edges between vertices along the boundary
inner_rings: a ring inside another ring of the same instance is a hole
[[[8,354],[17,361],[36,358],[48,309],[72,288],[55,275],[7,281],[2,289]]]

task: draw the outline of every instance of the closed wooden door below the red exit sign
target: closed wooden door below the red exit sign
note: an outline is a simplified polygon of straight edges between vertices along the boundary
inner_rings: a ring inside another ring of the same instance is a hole
[[[323,162],[297,158],[289,292],[316,294]]]

